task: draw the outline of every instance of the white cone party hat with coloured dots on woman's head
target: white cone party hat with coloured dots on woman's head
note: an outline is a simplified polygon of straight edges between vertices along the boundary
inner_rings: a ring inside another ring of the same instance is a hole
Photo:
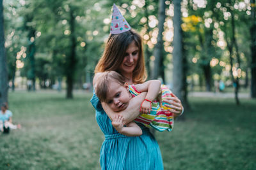
[[[116,4],[113,4],[113,13],[111,18],[110,33],[120,34],[131,29],[128,22],[125,20],[123,15],[120,13]]]

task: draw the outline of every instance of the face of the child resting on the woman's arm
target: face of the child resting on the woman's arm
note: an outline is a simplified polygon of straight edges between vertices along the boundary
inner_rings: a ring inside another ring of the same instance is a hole
[[[131,98],[128,85],[120,85],[115,81],[109,85],[106,103],[111,110],[125,110]]]

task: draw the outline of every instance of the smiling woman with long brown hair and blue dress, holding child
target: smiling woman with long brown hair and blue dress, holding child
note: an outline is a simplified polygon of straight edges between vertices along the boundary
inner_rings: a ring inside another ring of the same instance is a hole
[[[114,4],[113,14],[116,9]],[[127,24],[122,16],[113,16],[113,18],[121,18]],[[118,26],[119,23],[118,21]],[[115,26],[116,24],[111,25]],[[111,27],[111,34],[104,53],[95,67],[95,76],[97,76],[97,73],[113,70],[122,74],[129,85],[142,83],[146,80],[147,74],[140,35],[132,29],[118,32],[118,34],[115,33],[115,30]],[[124,117],[124,122],[131,122],[138,117],[145,94],[143,92],[133,97],[126,110],[120,113]],[[166,103],[175,105],[172,112],[180,114],[182,104],[177,97],[172,97],[172,99],[175,102],[166,101]],[[100,150],[101,169],[163,169],[159,146],[147,127],[138,124],[143,131],[141,136],[128,137],[119,134],[111,125],[111,120],[116,113],[113,113],[106,104],[100,103],[95,94],[93,94],[91,102],[96,109],[97,123],[106,138]]]

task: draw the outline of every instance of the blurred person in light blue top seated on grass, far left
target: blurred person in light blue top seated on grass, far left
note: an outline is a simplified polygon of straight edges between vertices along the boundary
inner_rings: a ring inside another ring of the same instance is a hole
[[[3,103],[0,111],[0,131],[8,133],[10,129],[20,129],[20,124],[12,124],[12,111],[8,110],[7,103]]]

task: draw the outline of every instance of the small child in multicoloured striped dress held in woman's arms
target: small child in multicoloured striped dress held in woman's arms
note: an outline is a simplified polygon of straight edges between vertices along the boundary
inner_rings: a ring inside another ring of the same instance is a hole
[[[115,112],[125,110],[132,97],[141,92],[147,92],[145,100],[140,107],[140,117],[134,122],[142,123],[147,127],[153,127],[157,131],[172,131],[173,113],[162,106],[162,101],[166,97],[171,97],[170,90],[161,85],[159,80],[149,80],[145,83],[128,85],[122,75],[115,71],[98,73],[95,83],[95,93],[100,101],[108,104],[109,108]],[[122,116],[116,115],[112,125],[116,131],[126,136],[140,136],[142,131],[134,122],[122,124]]]

